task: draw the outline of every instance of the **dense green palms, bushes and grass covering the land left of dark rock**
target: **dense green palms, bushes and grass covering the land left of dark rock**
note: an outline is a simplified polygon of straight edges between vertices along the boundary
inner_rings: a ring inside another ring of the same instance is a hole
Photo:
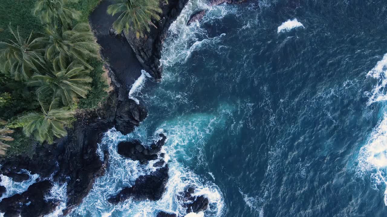
[[[0,154],[10,146],[7,155],[31,155],[36,141],[51,144],[67,134],[77,108],[96,108],[106,99],[100,47],[87,23],[98,2],[0,4],[0,14],[8,15],[0,20],[0,119],[15,138],[0,144]]]

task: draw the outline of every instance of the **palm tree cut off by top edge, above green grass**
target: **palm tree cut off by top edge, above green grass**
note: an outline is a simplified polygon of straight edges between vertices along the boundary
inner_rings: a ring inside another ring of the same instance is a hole
[[[42,24],[47,24],[53,29],[58,29],[59,26],[68,28],[73,19],[79,19],[81,13],[65,5],[76,2],[78,0],[38,0],[33,14],[39,17]]]

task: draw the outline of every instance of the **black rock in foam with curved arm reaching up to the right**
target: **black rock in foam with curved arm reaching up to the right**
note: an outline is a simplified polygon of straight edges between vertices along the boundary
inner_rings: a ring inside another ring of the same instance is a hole
[[[151,145],[151,149],[142,146],[140,141],[133,140],[120,142],[120,144],[118,144],[117,152],[134,161],[140,161],[141,164],[146,164],[148,161],[157,159],[157,153],[161,151],[161,147],[165,144],[166,136],[164,136],[164,134],[159,134],[159,137],[161,137],[161,139],[155,141]]]

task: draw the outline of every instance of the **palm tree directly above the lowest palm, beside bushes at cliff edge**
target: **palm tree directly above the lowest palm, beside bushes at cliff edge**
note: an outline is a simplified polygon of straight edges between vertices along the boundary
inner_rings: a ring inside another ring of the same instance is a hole
[[[78,64],[76,61],[63,68],[59,63],[59,57],[55,58],[53,71],[40,75],[35,73],[28,82],[30,86],[39,86],[36,91],[38,95],[53,93],[53,98],[62,98],[63,105],[72,105],[78,101],[78,96],[86,98],[90,90],[88,83],[92,78],[88,76],[89,70]]]

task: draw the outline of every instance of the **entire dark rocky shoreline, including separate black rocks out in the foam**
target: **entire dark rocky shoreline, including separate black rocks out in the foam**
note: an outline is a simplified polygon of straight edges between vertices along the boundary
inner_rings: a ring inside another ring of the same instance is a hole
[[[128,98],[129,87],[138,77],[141,68],[155,80],[161,80],[160,58],[163,40],[168,28],[187,2],[188,0],[169,0],[168,4],[161,3],[163,11],[161,20],[155,22],[151,32],[140,39],[137,39],[134,33],[123,35],[112,31],[110,26],[114,17],[104,15],[101,18],[99,13],[106,12],[107,3],[106,1],[100,3],[89,21],[98,43],[101,44],[101,56],[110,61],[110,65],[105,64],[104,67],[108,70],[113,91],[100,108],[78,112],[73,127],[68,129],[68,135],[57,139],[55,144],[45,143],[37,146],[32,158],[17,156],[0,161],[2,165],[0,173],[14,177],[14,180],[21,181],[27,178],[26,175],[20,175],[22,170],[39,175],[36,183],[29,186],[25,192],[4,198],[0,202],[0,212],[5,213],[4,216],[38,217],[52,212],[58,202],[44,199],[53,186],[52,181],[67,183],[67,208],[64,215],[82,202],[91,190],[94,180],[103,175],[107,167],[108,153],[104,153],[103,162],[96,152],[104,132],[115,126],[117,131],[128,134],[146,118],[147,110],[144,105]],[[200,19],[202,16],[204,14],[196,18]],[[100,22],[101,19],[105,22]],[[114,53],[115,47],[124,47],[127,58],[123,59],[122,55]],[[130,70],[133,73],[127,71],[130,67],[133,67]],[[124,188],[118,195],[112,195],[109,202],[117,203],[128,197],[135,197],[138,200],[161,198],[168,181],[168,164],[164,162],[163,154],[158,155],[166,139],[162,134],[160,137],[162,139],[155,142],[152,149],[144,148],[138,141],[129,141],[119,146],[120,154],[141,163],[159,158],[160,160],[155,163],[159,168],[149,175],[140,176],[132,187]],[[193,191],[193,188],[188,188],[181,193],[181,200],[187,204],[187,212],[207,209],[208,199],[203,196],[192,196]],[[158,216],[176,215],[160,212]]]

